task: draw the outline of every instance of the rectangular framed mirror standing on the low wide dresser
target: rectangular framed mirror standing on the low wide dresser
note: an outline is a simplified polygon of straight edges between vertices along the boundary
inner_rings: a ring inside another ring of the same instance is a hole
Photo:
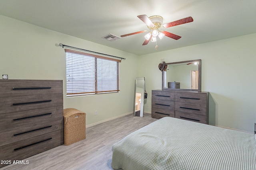
[[[201,92],[201,60],[165,63],[162,90]]]

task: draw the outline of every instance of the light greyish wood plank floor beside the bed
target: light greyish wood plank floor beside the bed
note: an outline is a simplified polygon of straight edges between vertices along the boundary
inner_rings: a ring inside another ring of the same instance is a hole
[[[29,164],[12,164],[1,170],[113,170],[112,145],[130,133],[156,121],[151,114],[119,117],[86,129],[86,139],[69,146],[36,154],[24,160]]]

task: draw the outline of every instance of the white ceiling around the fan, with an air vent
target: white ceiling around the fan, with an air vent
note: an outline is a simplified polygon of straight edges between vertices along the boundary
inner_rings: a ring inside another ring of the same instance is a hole
[[[164,37],[157,50],[153,42],[142,46],[146,33],[102,38],[148,29],[137,18],[143,14],[162,16],[163,23],[188,16],[194,21],[164,29],[182,38]],[[136,55],[256,33],[256,0],[0,0],[0,15]]]

